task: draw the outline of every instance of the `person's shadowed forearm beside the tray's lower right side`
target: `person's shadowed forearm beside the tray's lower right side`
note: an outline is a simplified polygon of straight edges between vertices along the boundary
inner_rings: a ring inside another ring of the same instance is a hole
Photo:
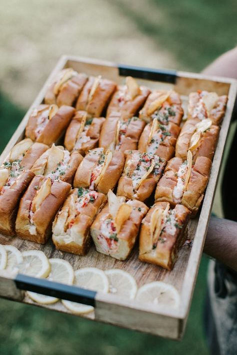
[[[237,272],[237,222],[211,217],[203,251]]]

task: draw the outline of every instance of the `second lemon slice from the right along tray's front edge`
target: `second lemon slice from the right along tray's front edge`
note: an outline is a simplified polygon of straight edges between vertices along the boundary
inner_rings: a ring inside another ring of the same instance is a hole
[[[111,294],[126,297],[130,300],[135,298],[137,286],[135,279],[130,274],[120,269],[106,270],[104,273],[108,278]]]

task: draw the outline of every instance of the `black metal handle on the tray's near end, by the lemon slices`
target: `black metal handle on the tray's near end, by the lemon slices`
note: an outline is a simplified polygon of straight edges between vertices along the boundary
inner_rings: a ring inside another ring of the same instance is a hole
[[[19,290],[32,291],[38,294],[56,297],[61,300],[73,301],[95,307],[95,291],[21,274],[18,274],[14,281]]]

